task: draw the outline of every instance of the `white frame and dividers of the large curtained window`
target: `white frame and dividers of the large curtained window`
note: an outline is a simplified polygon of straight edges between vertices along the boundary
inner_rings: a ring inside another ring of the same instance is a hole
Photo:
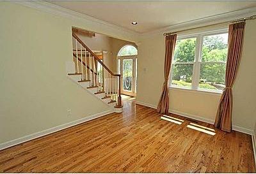
[[[192,91],[202,91],[202,92],[213,92],[222,94],[222,90],[216,90],[216,89],[200,89],[199,81],[200,81],[200,67],[201,64],[209,64],[209,63],[221,63],[221,62],[202,62],[202,46],[203,46],[203,38],[204,36],[211,36],[215,34],[225,34],[228,33],[228,29],[218,29],[214,31],[205,31],[201,33],[195,33],[195,34],[186,34],[177,36],[177,40],[183,40],[183,39],[189,39],[189,38],[196,38],[196,48],[195,48],[195,59],[194,62],[174,62],[174,56],[172,57],[172,65],[171,65],[171,74],[170,74],[170,88],[172,89],[186,89],[186,90],[192,90]],[[181,87],[178,85],[172,84],[172,76],[173,76],[173,64],[193,64],[193,74],[192,74],[192,84],[191,87]],[[223,64],[226,64],[226,62],[223,62]]]

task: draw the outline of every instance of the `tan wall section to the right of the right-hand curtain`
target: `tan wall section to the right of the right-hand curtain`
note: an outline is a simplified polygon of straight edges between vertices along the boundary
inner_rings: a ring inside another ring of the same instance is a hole
[[[252,129],[256,122],[256,20],[247,20],[243,53],[233,96],[233,123]]]

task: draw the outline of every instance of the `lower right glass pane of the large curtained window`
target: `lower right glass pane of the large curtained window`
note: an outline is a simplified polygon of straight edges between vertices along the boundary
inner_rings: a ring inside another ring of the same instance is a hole
[[[200,89],[219,89],[225,88],[225,68],[226,64],[208,63],[201,64],[200,68]]]

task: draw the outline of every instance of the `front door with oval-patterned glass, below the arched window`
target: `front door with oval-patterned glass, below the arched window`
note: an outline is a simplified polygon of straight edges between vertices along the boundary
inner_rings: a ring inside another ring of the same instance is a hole
[[[122,75],[122,94],[136,97],[137,56],[118,57],[118,70]]]

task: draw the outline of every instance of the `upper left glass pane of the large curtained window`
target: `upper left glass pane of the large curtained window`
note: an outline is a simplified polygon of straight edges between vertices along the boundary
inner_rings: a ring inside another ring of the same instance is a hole
[[[174,62],[194,62],[196,38],[177,40],[174,50]]]

